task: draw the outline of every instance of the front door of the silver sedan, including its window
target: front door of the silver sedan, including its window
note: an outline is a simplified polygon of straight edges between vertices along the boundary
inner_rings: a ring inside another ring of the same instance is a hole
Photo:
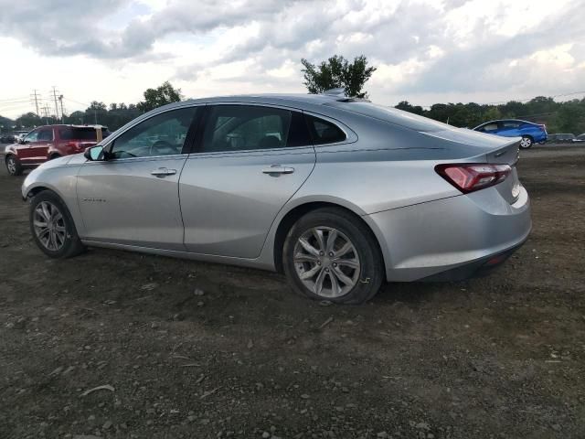
[[[199,112],[190,106],[157,113],[104,146],[105,160],[81,166],[82,238],[185,250],[178,180]]]

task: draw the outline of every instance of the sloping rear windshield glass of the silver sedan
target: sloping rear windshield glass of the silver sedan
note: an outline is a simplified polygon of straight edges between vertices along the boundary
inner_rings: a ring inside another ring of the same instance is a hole
[[[388,123],[395,123],[416,131],[431,132],[453,129],[447,123],[433,121],[418,114],[403,112],[396,108],[384,107],[371,102],[327,102],[325,105],[330,105],[348,112],[356,112]]]

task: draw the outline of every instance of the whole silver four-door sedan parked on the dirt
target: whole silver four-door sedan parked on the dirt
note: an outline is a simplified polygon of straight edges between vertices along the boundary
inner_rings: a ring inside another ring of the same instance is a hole
[[[385,281],[483,272],[527,239],[519,141],[340,96],[211,98],[39,166],[22,195],[51,257],[96,246],[232,263],[357,304]]]

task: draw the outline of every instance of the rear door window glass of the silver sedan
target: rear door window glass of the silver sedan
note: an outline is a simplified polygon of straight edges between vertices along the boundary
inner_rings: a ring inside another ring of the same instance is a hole
[[[216,105],[211,108],[202,152],[229,152],[298,146],[291,135],[293,114],[260,105]],[[295,115],[295,122],[297,116]],[[296,123],[295,123],[296,125]]]

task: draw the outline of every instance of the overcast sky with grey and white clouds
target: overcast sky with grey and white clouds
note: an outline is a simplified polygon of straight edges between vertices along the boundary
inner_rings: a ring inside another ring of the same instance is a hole
[[[300,60],[333,54],[366,55],[370,99],[388,105],[585,91],[585,0],[0,0],[0,11],[9,117],[53,85],[66,112],[138,102],[165,80],[194,98],[304,92]]]

